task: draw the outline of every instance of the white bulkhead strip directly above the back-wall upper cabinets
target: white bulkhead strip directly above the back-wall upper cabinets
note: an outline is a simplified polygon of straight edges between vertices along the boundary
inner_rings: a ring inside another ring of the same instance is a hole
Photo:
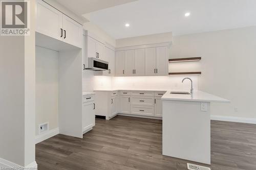
[[[124,46],[172,42],[172,39],[173,39],[172,32],[144,35],[144,36],[131,37],[131,38],[122,38],[122,39],[116,40],[116,47],[118,48],[118,47],[124,47]]]

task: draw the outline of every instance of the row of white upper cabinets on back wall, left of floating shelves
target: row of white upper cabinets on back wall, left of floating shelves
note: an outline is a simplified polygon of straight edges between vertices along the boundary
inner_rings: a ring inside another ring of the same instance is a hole
[[[168,76],[168,46],[116,51],[116,76]]]

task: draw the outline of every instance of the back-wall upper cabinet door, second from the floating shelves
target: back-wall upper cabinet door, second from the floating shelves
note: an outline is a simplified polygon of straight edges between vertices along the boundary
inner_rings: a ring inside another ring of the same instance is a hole
[[[156,48],[145,49],[145,75],[156,75]]]

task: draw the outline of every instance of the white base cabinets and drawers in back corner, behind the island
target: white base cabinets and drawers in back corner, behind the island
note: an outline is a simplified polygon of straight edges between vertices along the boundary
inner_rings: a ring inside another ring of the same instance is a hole
[[[95,114],[106,119],[119,115],[161,119],[161,96],[166,91],[95,90]]]

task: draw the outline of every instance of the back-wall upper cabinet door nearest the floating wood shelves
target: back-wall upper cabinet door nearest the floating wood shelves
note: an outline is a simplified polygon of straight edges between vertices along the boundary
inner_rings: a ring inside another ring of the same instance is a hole
[[[156,74],[158,76],[168,75],[168,47],[156,48]]]

